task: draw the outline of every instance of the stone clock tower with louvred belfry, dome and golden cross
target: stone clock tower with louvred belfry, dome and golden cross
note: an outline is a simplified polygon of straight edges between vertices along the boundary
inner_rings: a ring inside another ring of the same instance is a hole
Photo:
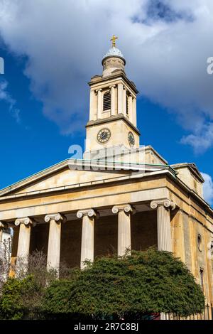
[[[102,59],[102,75],[89,82],[89,122],[86,125],[86,151],[90,158],[106,148],[121,146],[124,151],[139,148],[136,126],[136,85],[126,77],[126,60],[116,48],[116,36]]]

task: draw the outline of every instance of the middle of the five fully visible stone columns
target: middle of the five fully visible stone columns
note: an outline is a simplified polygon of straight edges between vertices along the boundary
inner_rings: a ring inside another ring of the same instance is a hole
[[[94,261],[94,218],[97,213],[93,209],[79,210],[77,217],[82,218],[82,248],[81,248],[81,269],[85,268],[84,262]]]

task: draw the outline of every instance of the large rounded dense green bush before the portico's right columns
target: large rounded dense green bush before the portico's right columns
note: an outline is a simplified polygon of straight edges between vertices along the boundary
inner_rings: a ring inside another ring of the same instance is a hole
[[[204,296],[185,264],[168,252],[148,249],[119,259],[102,257],[83,271],[75,269],[72,279],[48,287],[44,306],[53,314],[136,320],[147,313],[200,313]]]

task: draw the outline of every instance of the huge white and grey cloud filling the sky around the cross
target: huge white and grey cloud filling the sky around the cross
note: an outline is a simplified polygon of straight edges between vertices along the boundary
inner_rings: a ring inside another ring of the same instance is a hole
[[[158,6],[157,6],[158,4]],[[119,36],[126,72],[141,95],[175,112],[190,136],[182,143],[212,146],[212,0],[0,0],[0,32],[17,55],[46,117],[62,133],[88,117],[87,81],[102,72],[109,37]],[[146,112],[146,111],[144,111]],[[203,144],[202,144],[203,143]]]

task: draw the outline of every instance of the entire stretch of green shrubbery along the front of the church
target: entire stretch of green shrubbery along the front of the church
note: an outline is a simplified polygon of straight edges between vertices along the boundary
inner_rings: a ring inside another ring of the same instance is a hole
[[[46,270],[36,252],[28,271],[8,279],[0,297],[0,318],[72,318],[139,320],[159,312],[190,316],[204,309],[204,296],[179,259],[151,248],[87,262],[84,270]]]

